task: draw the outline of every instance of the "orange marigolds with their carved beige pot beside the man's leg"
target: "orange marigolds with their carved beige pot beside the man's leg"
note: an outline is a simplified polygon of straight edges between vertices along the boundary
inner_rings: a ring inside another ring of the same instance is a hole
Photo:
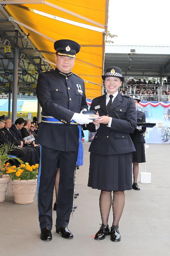
[[[37,187],[37,174],[39,164],[30,166],[28,163],[5,166],[5,171],[10,175],[10,184],[16,204],[31,204]]]

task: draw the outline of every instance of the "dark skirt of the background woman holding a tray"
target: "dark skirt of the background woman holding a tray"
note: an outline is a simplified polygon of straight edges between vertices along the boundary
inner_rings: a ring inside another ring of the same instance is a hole
[[[136,152],[132,153],[132,162],[145,163],[145,146],[144,143],[133,142]]]

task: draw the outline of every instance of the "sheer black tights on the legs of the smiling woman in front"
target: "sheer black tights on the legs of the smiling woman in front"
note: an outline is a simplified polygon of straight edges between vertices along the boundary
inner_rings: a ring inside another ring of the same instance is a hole
[[[102,217],[102,224],[108,225],[108,218],[112,204],[113,208],[113,223],[119,225],[119,220],[124,208],[124,191],[113,191],[113,201],[111,196],[112,191],[101,190],[99,205]]]

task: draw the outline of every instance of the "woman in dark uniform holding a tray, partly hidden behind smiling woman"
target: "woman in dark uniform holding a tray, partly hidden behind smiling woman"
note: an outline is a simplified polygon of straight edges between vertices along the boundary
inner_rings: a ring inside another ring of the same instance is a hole
[[[137,113],[137,123],[146,123],[145,121],[145,113],[139,111],[138,103],[140,100],[136,95],[133,95],[132,98],[135,101],[136,106],[136,113]],[[138,172],[139,172],[139,163],[145,163],[145,139],[143,133],[146,131],[146,127],[137,126],[134,132],[130,133],[131,140],[135,146],[136,152],[132,154],[132,162],[133,162],[133,185],[132,188],[135,190],[140,190],[137,179],[138,179]]]

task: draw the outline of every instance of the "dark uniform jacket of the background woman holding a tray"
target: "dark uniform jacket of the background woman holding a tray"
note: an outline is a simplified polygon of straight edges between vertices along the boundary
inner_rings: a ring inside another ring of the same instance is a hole
[[[138,109],[136,113],[137,113],[137,123],[146,123],[145,113],[139,111]],[[129,134],[131,136],[131,140],[133,142],[145,143],[145,139],[143,136],[143,133],[145,131],[146,131],[146,127],[143,127],[143,126],[141,131],[139,131],[138,129],[135,129],[132,133]]]

